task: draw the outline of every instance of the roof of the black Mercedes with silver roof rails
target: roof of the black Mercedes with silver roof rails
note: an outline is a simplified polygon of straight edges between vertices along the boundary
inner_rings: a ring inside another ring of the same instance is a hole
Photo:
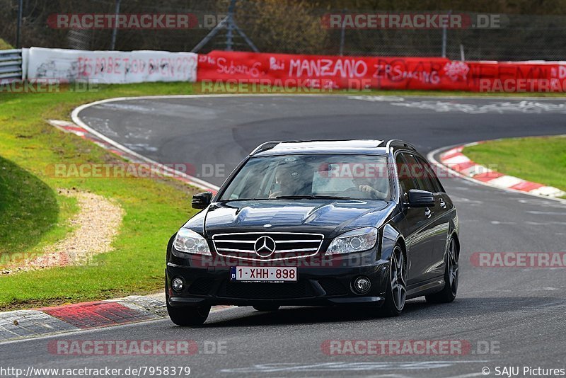
[[[265,142],[254,149],[250,156],[287,154],[387,154],[390,147],[415,149],[407,142],[392,139],[344,139],[344,140],[294,140]]]

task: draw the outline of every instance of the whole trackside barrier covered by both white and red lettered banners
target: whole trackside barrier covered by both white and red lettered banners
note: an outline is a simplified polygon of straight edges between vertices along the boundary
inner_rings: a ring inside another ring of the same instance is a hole
[[[566,62],[474,62],[439,57],[337,57],[212,51],[0,50],[0,80],[101,84],[202,81],[352,90],[565,92]],[[207,83],[208,82],[208,83]]]

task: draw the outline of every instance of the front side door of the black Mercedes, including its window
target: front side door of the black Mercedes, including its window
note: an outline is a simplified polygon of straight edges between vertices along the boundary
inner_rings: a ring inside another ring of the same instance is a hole
[[[395,156],[400,185],[400,195],[403,202],[408,200],[410,189],[427,190],[427,185],[419,176],[420,164],[414,154],[402,151]],[[422,169],[422,166],[421,166]],[[434,227],[435,217],[433,208],[403,206],[405,214],[405,242],[408,249],[408,287],[434,277],[430,271],[434,260]]]

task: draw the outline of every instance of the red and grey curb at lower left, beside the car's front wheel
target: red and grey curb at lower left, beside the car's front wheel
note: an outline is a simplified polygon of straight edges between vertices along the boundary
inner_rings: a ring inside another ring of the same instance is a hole
[[[214,306],[211,312],[229,308]],[[166,318],[165,294],[0,312],[0,343]]]

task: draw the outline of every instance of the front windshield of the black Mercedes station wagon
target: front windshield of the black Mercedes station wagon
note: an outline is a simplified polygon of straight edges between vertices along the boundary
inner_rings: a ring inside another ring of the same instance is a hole
[[[386,156],[297,154],[251,158],[220,200],[388,200]]]

